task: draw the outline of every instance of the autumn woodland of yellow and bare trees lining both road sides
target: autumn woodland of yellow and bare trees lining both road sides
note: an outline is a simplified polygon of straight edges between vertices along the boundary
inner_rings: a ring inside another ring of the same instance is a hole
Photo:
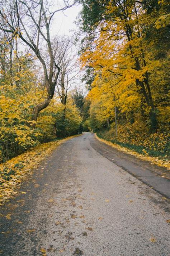
[[[78,32],[51,35],[75,4]],[[0,1],[0,162],[82,131],[167,159],[169,17],[166,0]]]

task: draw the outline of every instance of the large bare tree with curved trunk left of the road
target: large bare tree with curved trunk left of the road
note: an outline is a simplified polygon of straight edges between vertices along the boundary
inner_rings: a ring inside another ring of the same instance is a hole
[[[56,62],[50,38],[50,24],[55,13],[66,10],[76,0],[64,0],[63,6],[52,12],[48,0],[6,0],[0,1],[0,29],[5,33],[11,47],[11,39],[18,37],[37,56],[43,67],[46,98],[34,106],[32,120],[37,121],[38,113],[46,108],[55,93],[55,86],[61,70]],[[44,50],[48,51],[48,56]],[[49,63],[49,64],[48,64]],[[35,124],[34,124],[35,127]]]

